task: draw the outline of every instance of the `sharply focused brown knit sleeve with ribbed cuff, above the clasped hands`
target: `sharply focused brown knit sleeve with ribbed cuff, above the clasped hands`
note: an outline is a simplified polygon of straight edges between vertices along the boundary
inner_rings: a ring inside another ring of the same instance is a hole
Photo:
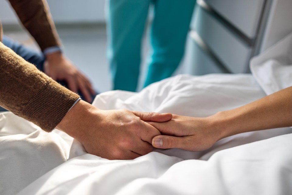
[[[50,132],[78,98],[0,42],[0,106]]]

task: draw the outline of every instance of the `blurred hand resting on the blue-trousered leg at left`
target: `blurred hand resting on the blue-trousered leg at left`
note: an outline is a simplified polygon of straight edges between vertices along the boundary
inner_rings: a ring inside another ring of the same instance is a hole
[[[86,101],[91,102],[90,94],[95,94],[89,80],[62,53],[46,56],[44,72],[54,80],[65,80],[70,90],[81,90]]]

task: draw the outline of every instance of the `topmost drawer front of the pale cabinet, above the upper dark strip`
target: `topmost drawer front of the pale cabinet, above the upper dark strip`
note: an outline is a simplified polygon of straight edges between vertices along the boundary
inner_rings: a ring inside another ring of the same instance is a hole
[[[256,36],[265,0],[204,0],[247,37]]]

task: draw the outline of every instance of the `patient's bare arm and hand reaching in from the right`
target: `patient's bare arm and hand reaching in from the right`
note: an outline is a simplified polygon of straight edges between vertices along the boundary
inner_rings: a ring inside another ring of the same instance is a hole
[[[206,118],[173,115],[163,123],[148,122],[161,131],[152,139],[158,148],[202,151],[217,140],[249,131],[292,126],[292,87],[250,104]]]

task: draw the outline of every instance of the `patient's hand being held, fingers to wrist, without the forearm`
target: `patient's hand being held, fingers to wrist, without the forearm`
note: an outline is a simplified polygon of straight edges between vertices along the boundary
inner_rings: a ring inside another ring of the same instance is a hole
[[[194,118],[173,115],[168,122],[148,122],[162,135],[152,139],[157,148],[180,148],[188,151],[203,151],[221,138],[219,126],[214,117]]]

